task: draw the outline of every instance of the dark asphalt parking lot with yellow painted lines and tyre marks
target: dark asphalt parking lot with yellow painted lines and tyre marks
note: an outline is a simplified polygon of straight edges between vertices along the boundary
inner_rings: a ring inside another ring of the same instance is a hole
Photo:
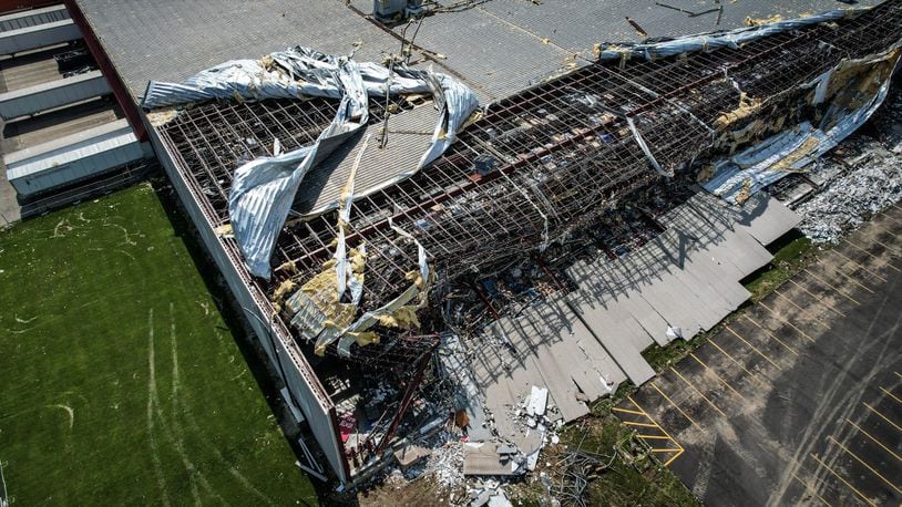
[[[902,501],[902,207],[615,408],[707,505]]]

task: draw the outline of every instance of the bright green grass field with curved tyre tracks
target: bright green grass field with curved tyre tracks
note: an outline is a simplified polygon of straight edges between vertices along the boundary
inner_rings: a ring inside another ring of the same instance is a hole
[[[0,231],[11,505],[316,503],[164,206],[142,184]]]

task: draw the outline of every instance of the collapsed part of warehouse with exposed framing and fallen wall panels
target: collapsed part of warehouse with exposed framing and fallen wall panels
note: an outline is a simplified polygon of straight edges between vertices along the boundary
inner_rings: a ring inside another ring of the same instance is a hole
[[[435,86],[370,97],[359,132],[317,157],[290,196],[271,258],[266,250],[268,278],[252,275],[262,272],[235,235],[236,172],[316,145],[345,102],[253,100],[253,83],[250,96],[145,102],[143,117],[287,401],[344,483],[403,437],[399,428],[417,432],[448,410],[465,411],[471,437],[533,455],[542,435],[504,414],[531,385],[551,392],[554,422],[566,422],[617,383],[648,380],[645,346],[710,329],[748,298],[738,280],[769,261],[763,246],[798,218],[758,190],[880,105],[900,37],[902,1],[890,0],[598,43],[553,79],[467,111],[450,133],[435,128],[448,110]],[[388,75],[411,69],[414,44],[401,46]],[[278,58],[263,62],[305,83]],[[453,143],[421,165],[437,139]],[[664,287],[672,275],[678,289]],[[461,386],[457,406],[416,400],[434,365]],[[491,456],[470,465],[511,469]]]

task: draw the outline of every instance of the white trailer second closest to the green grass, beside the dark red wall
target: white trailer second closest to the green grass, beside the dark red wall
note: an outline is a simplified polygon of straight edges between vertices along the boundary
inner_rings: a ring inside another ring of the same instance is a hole
[[[12,120],[106,95],[110,86],[100,71],[41,83],[0,94],[0,117]]]

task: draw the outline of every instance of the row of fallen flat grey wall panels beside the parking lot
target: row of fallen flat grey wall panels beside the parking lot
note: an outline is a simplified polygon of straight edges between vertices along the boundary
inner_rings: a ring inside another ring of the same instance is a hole
[[[668,327],[689,339],[748,299],[739,280],[772,258],[749,230],[776,230],[791,217],[777,201],[744,213],[707,197],[668,213],[667,230],[642,248],[576,262],[568,273],[578,290],[498,320],[469,345],[480,401],[500,436],[522,452],[535,445],[535,432],[514,415],[533,385],[547,387],[561,417],[572,421],[586,410],[577,393],[592,401],[627,377],[652,379],[642,351],[667,344]]]

